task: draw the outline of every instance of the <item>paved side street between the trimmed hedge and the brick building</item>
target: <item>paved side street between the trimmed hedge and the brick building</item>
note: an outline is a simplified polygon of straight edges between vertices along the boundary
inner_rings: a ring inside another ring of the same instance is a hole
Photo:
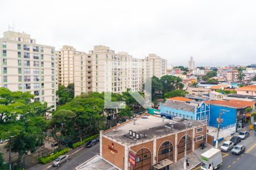
[[[41,170],[41,169],[58,169],[58,170],[73,170],[81,163],[92,158],[94,155],[99,154],[100,144],[97,143],[91,148],[82,148],[78,152],[70,155],[68,162],[61,164],[59,167],[49,167],[49,164],[38,164],[35,167],[29,168],[29,170]]]

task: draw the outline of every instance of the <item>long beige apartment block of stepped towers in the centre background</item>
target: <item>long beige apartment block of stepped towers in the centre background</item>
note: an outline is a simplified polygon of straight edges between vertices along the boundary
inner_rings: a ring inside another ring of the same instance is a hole
[[[89,54],[75,57],[75,96],[82,92],[142,91],[147,77],[166,75],[167,60],[155,54],[144,59],[126,52],[115,53],[108,46],[96,45]]]

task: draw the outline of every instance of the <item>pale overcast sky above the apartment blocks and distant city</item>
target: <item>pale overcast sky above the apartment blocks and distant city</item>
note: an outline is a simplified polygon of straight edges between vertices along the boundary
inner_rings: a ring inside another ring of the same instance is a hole
[[[88,52],[110,46],[168,65],[256,63],[256,1],[12,1],[0,2],[0,32],[15,25],[38,44]],[[1,36],[2,37],[2,36]]]

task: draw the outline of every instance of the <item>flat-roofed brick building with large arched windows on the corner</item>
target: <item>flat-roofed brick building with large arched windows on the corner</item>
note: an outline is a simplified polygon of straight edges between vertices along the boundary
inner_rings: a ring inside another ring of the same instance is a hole
[[[112,129],[101,131],[100,156],[119,169],[168,168],[184,157],[186,122],[143,114]],[[187,154],[200,147],[206,132],[206,124],[189,120]]]

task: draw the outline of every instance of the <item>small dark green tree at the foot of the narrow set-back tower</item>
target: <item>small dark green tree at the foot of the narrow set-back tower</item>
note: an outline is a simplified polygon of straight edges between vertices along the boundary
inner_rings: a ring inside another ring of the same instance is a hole
[[[56,95],[59,97],[57,101],[57,105],[63,105],[74,98],[74,84],[68,84],[67,87],[59,85],[58,90],[56,91]]]

